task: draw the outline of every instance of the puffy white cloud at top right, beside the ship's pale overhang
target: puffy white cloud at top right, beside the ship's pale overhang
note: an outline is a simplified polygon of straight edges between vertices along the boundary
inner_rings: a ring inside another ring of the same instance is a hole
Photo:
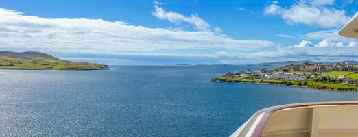
[[[318,3],[318,2],[315,2]],[[321,1],[320,4],[329,3],[329,1]],[[310,26],[318,27],[342,27],[350,17],[346,16],[344,10],[335,8],[327,8],[325,6],[310,5],[305,2],[295,3],[289,8],[283,8],[276,3],[265,8],[265,14],[280,16],[287,24],[303,23]]]

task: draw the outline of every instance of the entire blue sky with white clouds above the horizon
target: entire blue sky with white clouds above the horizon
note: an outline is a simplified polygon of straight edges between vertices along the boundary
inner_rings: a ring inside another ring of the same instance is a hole
[[[104,64],[358,61],[357,0],[0,0],[0,50]]]

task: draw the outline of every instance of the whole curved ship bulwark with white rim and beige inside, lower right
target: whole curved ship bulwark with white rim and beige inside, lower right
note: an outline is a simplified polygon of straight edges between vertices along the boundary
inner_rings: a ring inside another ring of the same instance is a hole
[[[338,132],[358,136],[357,101],[296,103],[265,108],[256,112],[231,136],[329,136],[333,133],[336,136]]]

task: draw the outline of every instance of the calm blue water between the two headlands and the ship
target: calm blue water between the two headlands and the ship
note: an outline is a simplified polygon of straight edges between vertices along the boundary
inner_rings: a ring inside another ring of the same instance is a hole
[[[259,67],[0,70],[0,136],[229,136],[268,106],[358,100],[358,92],[208,82],[240,69]]]

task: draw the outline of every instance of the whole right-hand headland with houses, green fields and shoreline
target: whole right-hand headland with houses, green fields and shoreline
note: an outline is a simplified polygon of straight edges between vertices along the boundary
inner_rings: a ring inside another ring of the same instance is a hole
[[[258,71],[229,71],[210,82],[281,84],[323,90],[357,91],[358,64],[346,62],[289,64]]]

